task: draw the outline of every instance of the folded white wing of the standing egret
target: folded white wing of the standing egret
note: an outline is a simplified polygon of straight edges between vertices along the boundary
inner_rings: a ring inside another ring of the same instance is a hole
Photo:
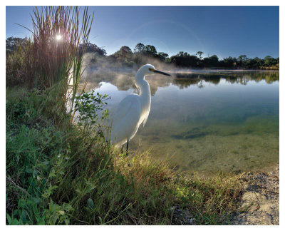
[[[125,143],[132,138],[138,130],[140,121],[139,96],[131,94],[123,99],[113,114],[111,140]]]

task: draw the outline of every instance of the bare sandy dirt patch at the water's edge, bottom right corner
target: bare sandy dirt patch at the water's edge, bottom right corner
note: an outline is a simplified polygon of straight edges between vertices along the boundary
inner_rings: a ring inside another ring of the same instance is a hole
[[[279,165],[240,175],[242,200],[232,225],[279,225]]]

